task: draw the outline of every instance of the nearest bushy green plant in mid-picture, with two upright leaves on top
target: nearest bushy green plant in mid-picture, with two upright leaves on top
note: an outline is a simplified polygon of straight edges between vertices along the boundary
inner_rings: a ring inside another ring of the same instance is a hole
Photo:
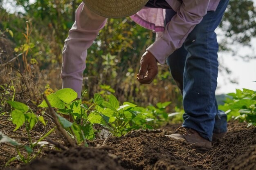
[[[96,106],[89,117],[98,117],[99,119],[103,117],[104,119],[101,121],[109,123],[106,125],[115,136],[124,135],[132,129],[142,128],[146,122],[151,121],[151,119],[147,119],[148,113],[143,112],[145,108],[137,107],[129,102],[124,102],[119,106],[117,98],[112,94],[106,102],[101,95],[96,93],[93,101]]]

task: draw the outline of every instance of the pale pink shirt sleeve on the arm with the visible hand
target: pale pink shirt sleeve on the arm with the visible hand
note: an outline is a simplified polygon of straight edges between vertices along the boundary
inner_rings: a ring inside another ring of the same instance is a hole
[[[180,48],[189,33],[207,13],[210,0],[183,0],[177,14],[166,24],[163,36],[151,44],[147,51],[152,53],[160,64],[176,49]]]

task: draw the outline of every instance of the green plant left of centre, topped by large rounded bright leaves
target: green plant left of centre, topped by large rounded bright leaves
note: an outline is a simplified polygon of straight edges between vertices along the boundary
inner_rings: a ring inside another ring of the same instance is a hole
[[[94,139],[94,130],[92,123],[88,121],[87,112],[92,107],[87,107],[85,104],[81,104],[80,100],[75,100],[77,93],[71,88],[64,88],[56,91],[47,96],[47,100],[51,107],[56,108],[56,116],[61,122],[61,125],[67,130],[76,141],[77,144],[81,144],[83,141],[86,144],[86,139]],[[48,108],[47,102],[44,100],[39,107]],[[70,115],[71,122],[59,114]],[[94,119],[92,119],[93,121]]]

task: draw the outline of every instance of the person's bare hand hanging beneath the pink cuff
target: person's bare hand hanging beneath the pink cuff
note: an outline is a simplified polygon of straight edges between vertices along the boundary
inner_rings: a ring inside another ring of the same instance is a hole
[[[150,84],[157,75],[157,60],[154,55],[149,51],[146,51],[140,59],[139,74],[137,74],[137,80],[141,84]]]

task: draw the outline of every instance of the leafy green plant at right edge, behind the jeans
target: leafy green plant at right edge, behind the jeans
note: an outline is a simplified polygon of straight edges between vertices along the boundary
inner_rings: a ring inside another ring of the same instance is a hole
[[[256,92],[243,88],[243,91],[236,89],[236,93],[227,94],[231,98],[227,98],[224,105],[220,105],[219,109],[224,110],[228,119],[238,119],[246,121],[249,126],[256,126]]]

